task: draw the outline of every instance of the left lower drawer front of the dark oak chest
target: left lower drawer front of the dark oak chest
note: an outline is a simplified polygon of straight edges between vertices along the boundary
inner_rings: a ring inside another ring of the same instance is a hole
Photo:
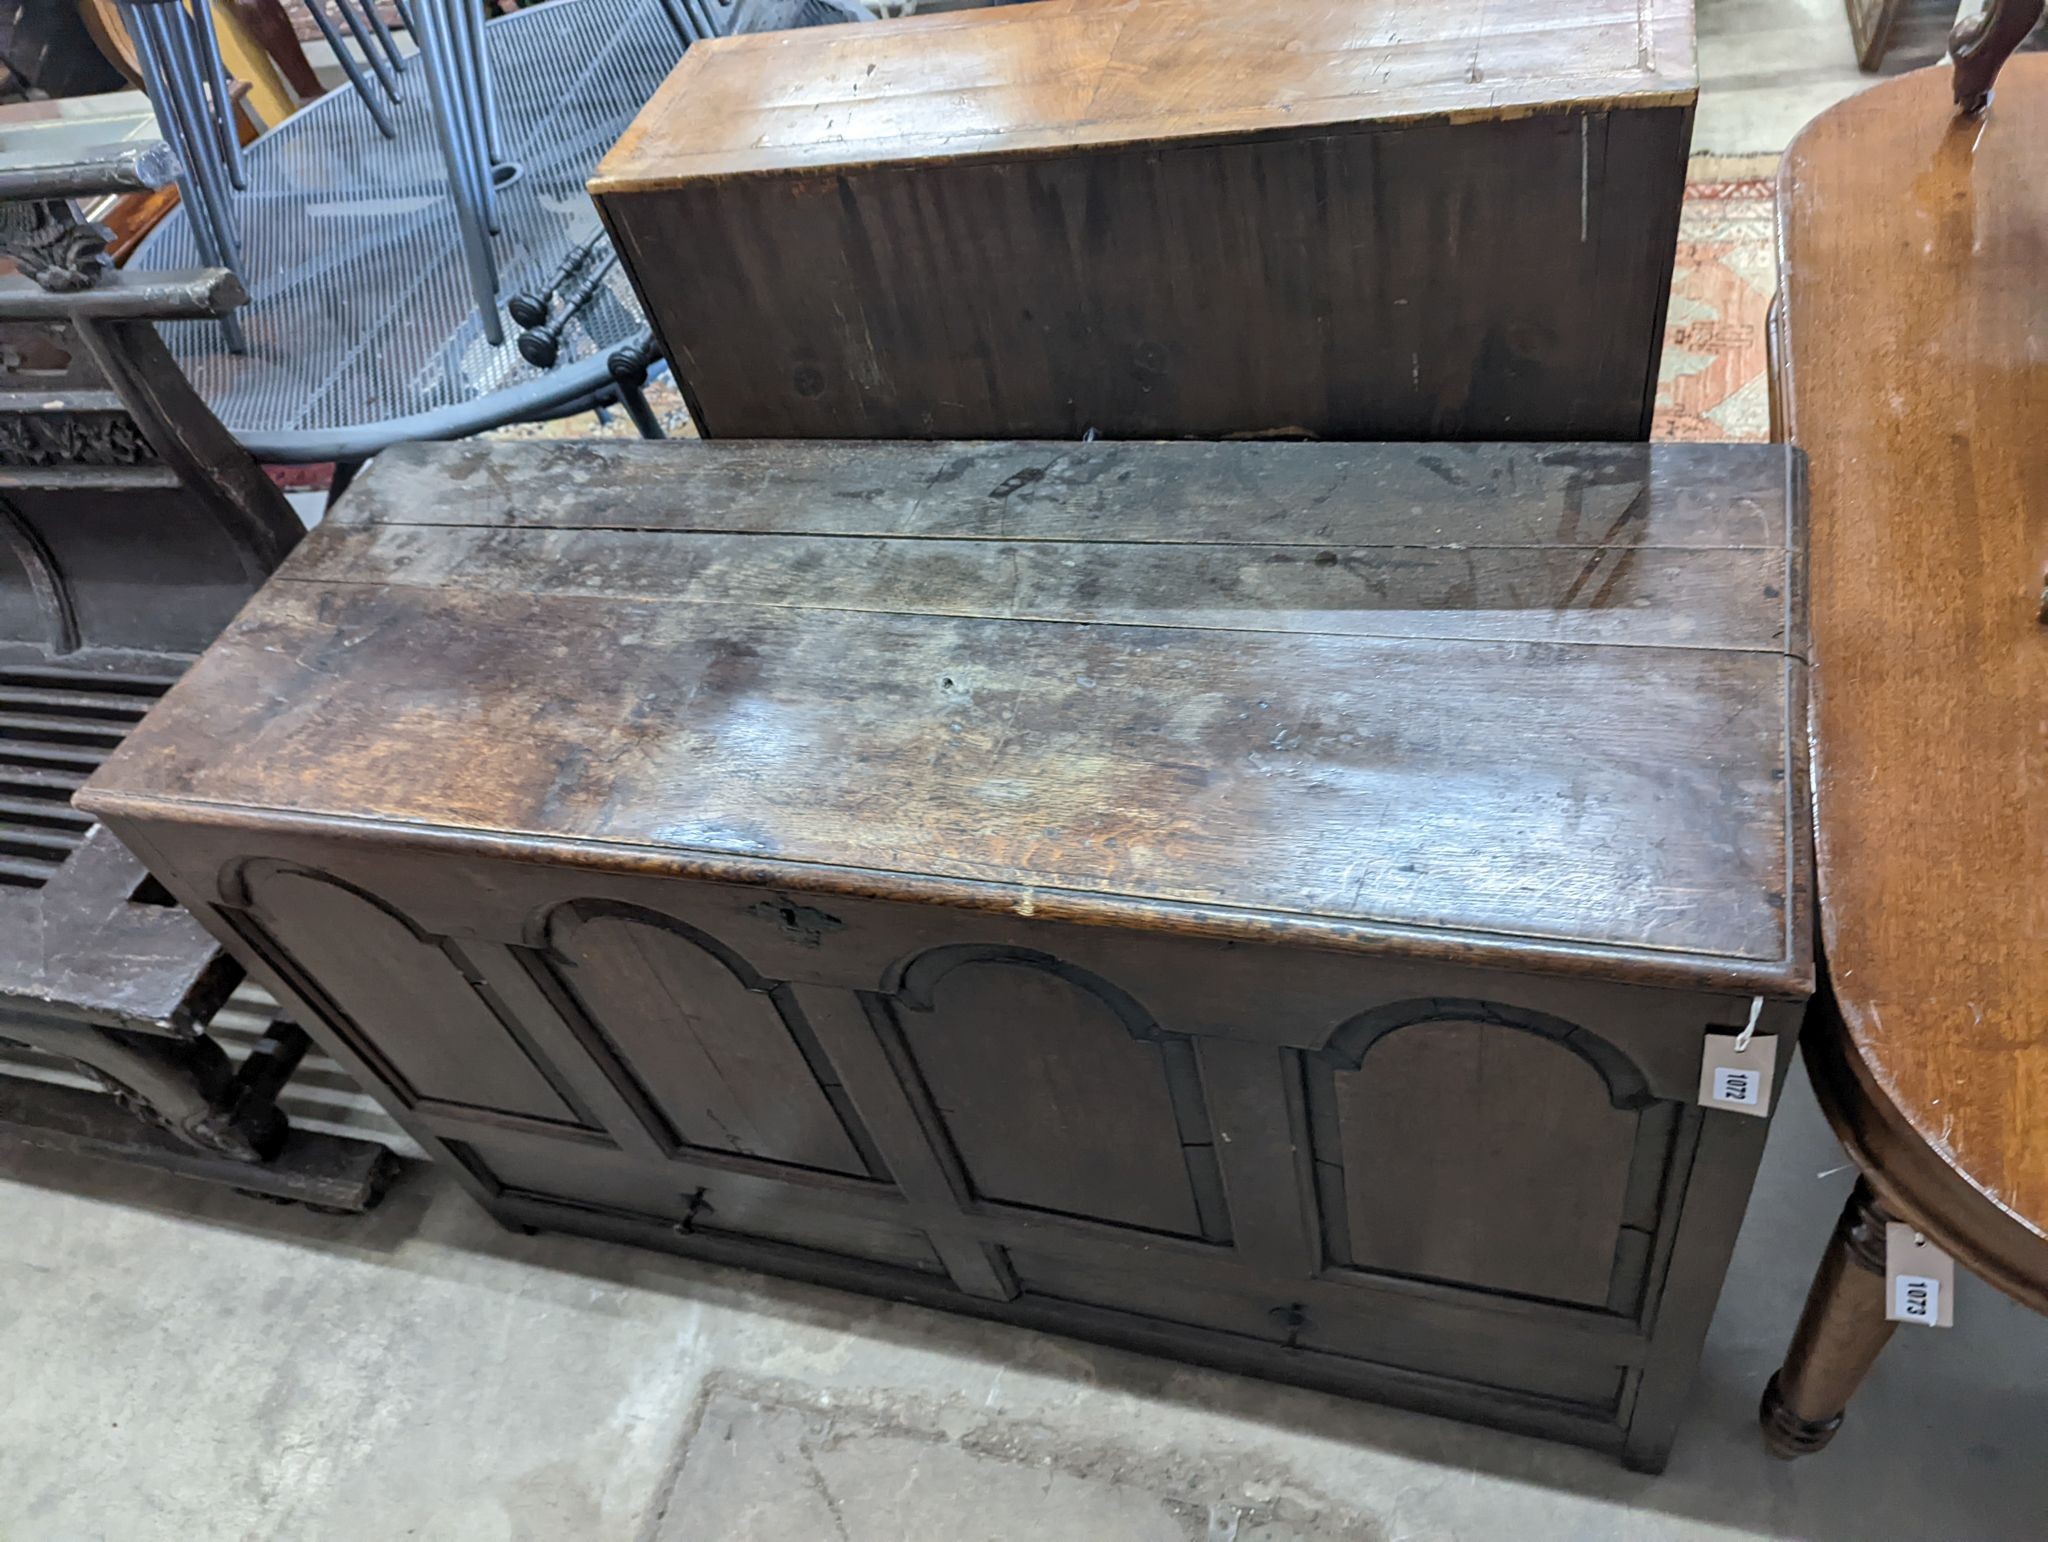
[[[920,1274],[944,1274],[924,1233],[834,1210],[829,1196],[809,1204],[797,1198],[797,1190],[788,1184],[774,1180],[666,1171],[571,1143],[479,1137],[446,1145],[477,1180],[518,1198],[657,1220],[682,1235],[745,1237]]]

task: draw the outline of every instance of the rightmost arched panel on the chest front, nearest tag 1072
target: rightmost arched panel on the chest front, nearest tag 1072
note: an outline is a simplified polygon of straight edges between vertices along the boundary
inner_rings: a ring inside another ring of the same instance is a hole
[[[1612,1046],[1483,1001],[1399,1003],[1309,1057],[1309,1110],[1333,1263],[1634,1302],[1671,1120]]]

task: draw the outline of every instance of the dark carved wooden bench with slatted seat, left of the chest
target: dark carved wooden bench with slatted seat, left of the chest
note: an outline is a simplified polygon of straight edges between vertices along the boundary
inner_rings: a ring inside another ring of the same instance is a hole
[[[0,164],[0,1040],[104,1089],[0,1075],[0,1137],[362,1210],[391,1153],[291,1126],[305,1034],[236,1065],[207,1022],[240,965],[70,801],[301,532],[156,332],[240,283],[115,272],[78,217],[174,174],[164,145]]]

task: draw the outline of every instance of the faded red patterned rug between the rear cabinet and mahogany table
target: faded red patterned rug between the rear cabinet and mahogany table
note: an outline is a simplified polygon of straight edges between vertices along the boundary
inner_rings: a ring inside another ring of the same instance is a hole
[[[1651,438],[1772,436],[1763,317],[1778,287],[1776,176],[1778,156],[1692,162]]]

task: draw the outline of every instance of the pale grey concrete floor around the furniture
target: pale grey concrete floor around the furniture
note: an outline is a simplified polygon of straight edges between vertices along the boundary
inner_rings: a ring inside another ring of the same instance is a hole
[[[1702,152],[1778,149],[1866,80],[1839,0],[1702,0],[1700,35]],[[1755,1399],[1847,1186],[1794,1079],[1671,1470],[1645,1479],[514,1237],[424,1169],[342,1220],[0,1151],[0,1542],[2048,1536],[2048,1323],[1974,1280],[1952,1331],[1901,1329],[1827,1454],[1763,1454]]]

